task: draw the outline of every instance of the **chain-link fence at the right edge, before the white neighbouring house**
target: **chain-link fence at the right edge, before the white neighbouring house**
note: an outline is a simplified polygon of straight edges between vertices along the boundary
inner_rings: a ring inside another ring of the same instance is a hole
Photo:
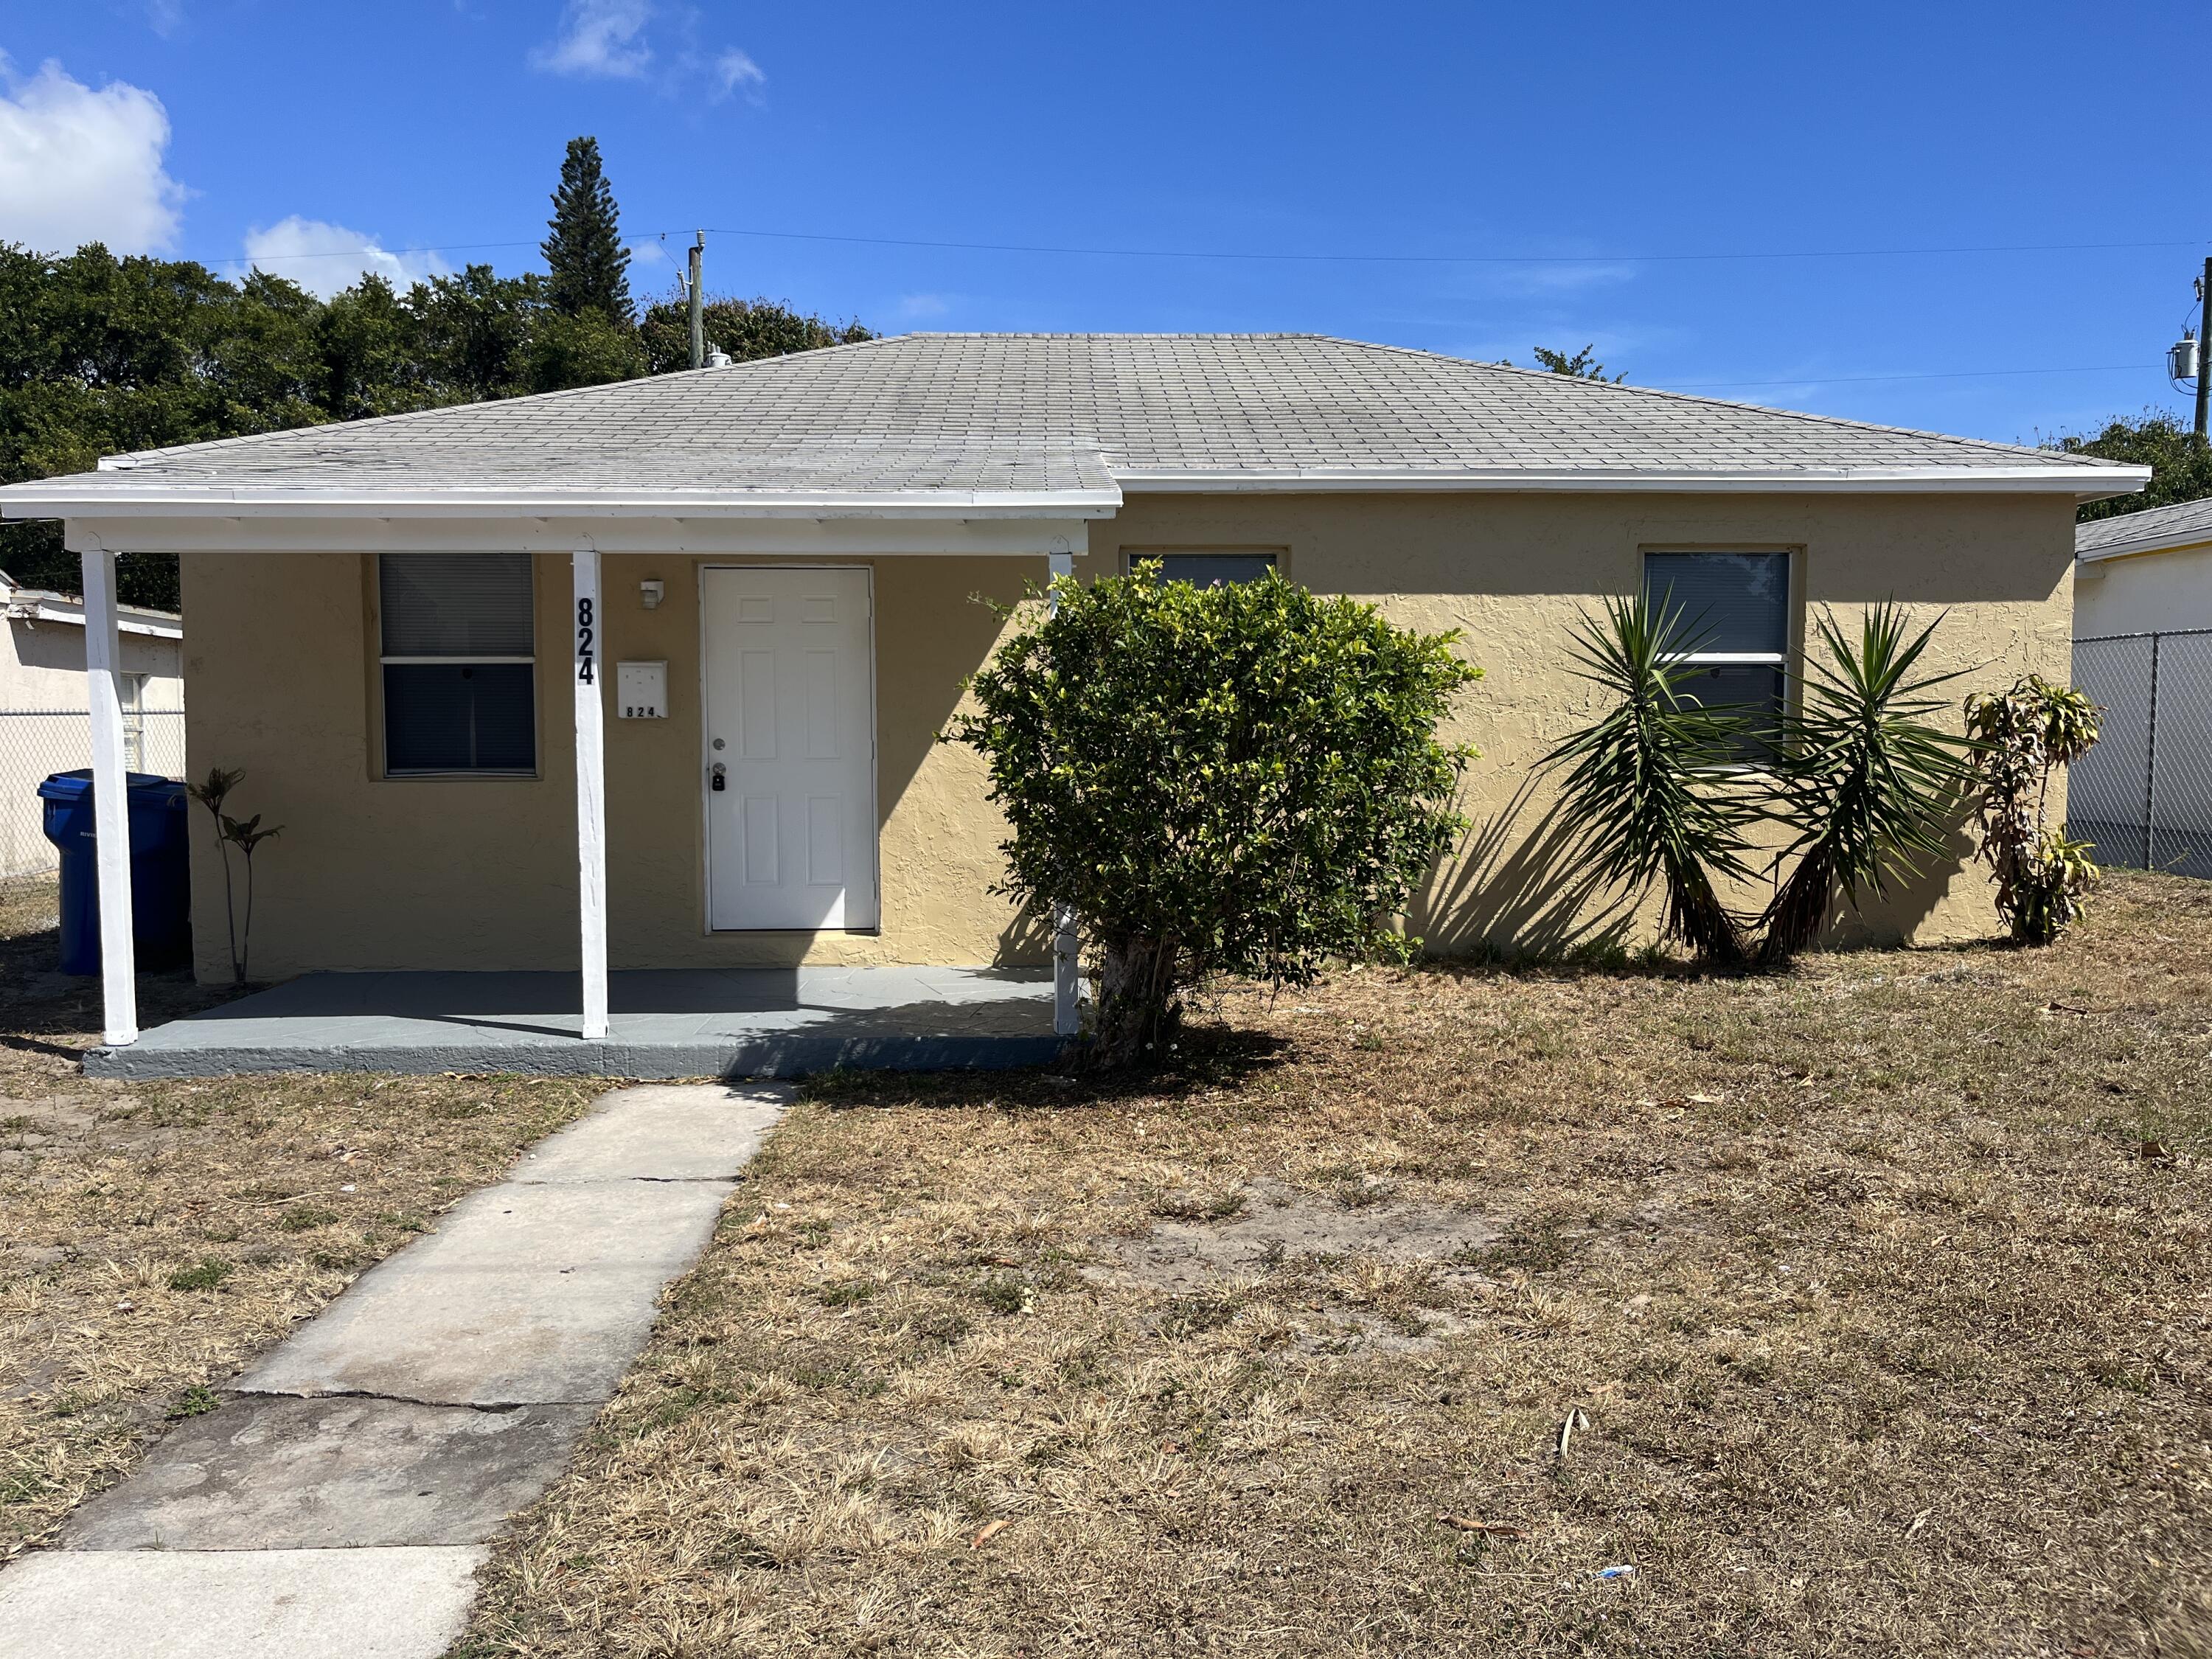
[[[2066,779],[2066,830],[2099,865],[2212,876],[2212,628],[2075,639],[2104,737]]]

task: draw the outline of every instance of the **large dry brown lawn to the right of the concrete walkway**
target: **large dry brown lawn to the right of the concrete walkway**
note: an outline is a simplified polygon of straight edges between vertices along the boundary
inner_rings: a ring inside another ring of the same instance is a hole
[[[462,1648],[2212,1652],[2212,885],[1225,1018],[814,1088]]]

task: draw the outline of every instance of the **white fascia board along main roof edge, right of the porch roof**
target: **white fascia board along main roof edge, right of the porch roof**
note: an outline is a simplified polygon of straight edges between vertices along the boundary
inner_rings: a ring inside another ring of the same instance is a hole
[[[1115,469],[1124,495],[1139,493],[1290,493],[1290,491],[1575,491],[1681,495],[2013,495],[2053,493],[2075,500],[2132,495],[2150,482],[2148,467],[1787,467],[1741,471],[1575,467],[1292,467],[1225,471]]]

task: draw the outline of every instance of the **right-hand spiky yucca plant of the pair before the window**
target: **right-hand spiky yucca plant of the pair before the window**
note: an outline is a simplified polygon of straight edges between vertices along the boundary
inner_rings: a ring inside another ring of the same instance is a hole
[[[1856,909],[1944,852],[1973,745],[1927,723],[1942,703],[1922,692],[1964,672],[1916,677],[1940,622],[1911,633],[1911,613],[1885,602],[1851,639],[1820,617],[1827,661],[1807,659],[1803,708],[1783,717],[1774,757],[1774,816],[1796,832],[1774,867],[1794,856],[1796,869],[1767,905],[1761,962],[1812,945],[1838,891]]]

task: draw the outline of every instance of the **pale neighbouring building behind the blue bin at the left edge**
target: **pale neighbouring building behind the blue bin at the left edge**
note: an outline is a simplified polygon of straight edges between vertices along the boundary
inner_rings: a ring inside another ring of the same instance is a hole
[[[0,876],[51,869],[38,785],[91,765],[84,604],[0,571]],[[122,608],[124,748],[133,772],[184,776],[184,619]]]

